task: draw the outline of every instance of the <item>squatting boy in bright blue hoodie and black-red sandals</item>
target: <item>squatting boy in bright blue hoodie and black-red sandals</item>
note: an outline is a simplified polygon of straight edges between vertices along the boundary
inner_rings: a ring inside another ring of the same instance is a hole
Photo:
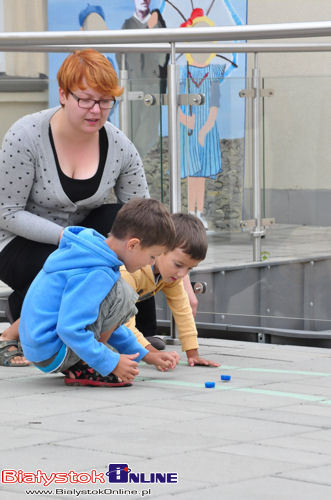
[[[19,333],[25,356],[43,372],[64,373],[67,385],[131,385],[141,359],[174,368],[177,353],[149,352],[124,326],[136,313],[137,295],[119,272],[122,264],[129,272],[152,265],[174,240],[168,211],[153,199],[127,202],[107,238],[67,227],[23,303]]]

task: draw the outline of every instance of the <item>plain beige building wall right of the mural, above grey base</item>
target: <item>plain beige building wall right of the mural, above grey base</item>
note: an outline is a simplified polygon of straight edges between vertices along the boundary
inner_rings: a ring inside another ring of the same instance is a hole
[[[329,0],[248,0],[248,23],[269,24],[326,21]],[[331,38],[278,40],[331,42]],[[270,42],[273,42],[272,40]],[[253,56],[248,56],[251,75]],[[274,90],[265,98],[261,148],[262,183],[268,190],[331,189],[331,52],[260,54],[264,86]],[[247,117],[251,116],[247,103]],[[248,122],[249,123],[249,122]],[[251,131],[246,141],[246,186],[251,185]],[[282,193],[284,194],[284,193]],[[312,194],[312,193],[311,193]],[[274,193],[275,195],[275,193]],[[316,197],[312,197],[313,200]],[[277,203],[274,203],[277,205]]]

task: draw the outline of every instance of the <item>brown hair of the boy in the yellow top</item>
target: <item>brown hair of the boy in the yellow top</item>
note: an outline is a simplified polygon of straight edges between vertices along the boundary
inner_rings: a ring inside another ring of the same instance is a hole
[[[198,217],[191,214],[172,214],[176,239],[174,248],[180,248],[192,259],[203,260],[206,257],[208,241],[206,230]]]

